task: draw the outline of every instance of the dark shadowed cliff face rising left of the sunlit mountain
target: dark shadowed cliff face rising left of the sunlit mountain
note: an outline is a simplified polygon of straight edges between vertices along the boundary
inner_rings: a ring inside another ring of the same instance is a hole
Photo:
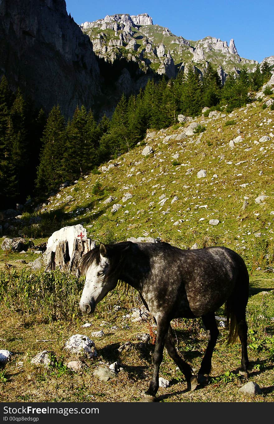
[[[66,11],[65,0],[0,1],[0,77],[47,112],[66,117],[92,107],[100,93],[92,44]]]

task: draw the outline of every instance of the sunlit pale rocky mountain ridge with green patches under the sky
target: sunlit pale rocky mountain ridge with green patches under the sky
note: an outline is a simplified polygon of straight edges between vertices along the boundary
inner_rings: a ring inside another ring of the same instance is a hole
[[[228,73],[239,73],[243,66],[252,71],[258,64],[238,55],[234,39],[229,45],[227,41],[211,36],[197,41],[186,40],[173,34],[169,28],[153,24],[153,18],[147,13],[107,15],[79,26],[90,37],[93,50],[99,57],[113,62],[122,56],[137,61],[140,69],[151,67],[168,78],[187,69],[190,64],[203,73],[211,62],[217,66],[224,83]]]

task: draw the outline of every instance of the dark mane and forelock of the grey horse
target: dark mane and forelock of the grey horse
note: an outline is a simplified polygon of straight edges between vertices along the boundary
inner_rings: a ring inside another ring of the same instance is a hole
[[[125,253],[129,249],[132,242],[123,241],[119,243],[113,244],[105,244],[107,248],[107,257],[110,261],[110,273],[113,273],[115,269],[121,266]],[[100,245],[96,245],[93,249],[91,249],[88,253],[86,253],[79,264],[79,273],[80,275],[85,275],[90,265],[96,263],[99,265],[100,262]]]

